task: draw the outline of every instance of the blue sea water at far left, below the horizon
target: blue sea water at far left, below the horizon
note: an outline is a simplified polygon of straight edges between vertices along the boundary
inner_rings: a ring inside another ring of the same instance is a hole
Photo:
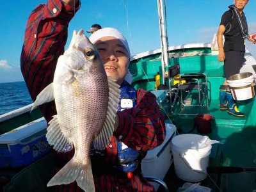
[[[0,83],[0,115],[27,106],[32,102],[24,81]]]

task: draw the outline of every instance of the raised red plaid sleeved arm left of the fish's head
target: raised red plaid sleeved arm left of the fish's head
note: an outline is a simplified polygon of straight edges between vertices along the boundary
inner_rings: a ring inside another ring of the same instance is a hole
[[[68,23],[78,9],[78,0],[48,0],[29,15],[20,68],[33,101],[53,81],[56,63],[67,42]],[[48,122],[56,114],[54,102],[39,108]]]

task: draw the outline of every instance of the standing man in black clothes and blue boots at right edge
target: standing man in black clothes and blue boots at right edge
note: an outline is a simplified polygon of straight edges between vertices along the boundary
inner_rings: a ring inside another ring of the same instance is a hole
[[[219,48],[218,60],[224,61],[225,81],[220,86],[220,109],[228,110],[234,116],[244,116],[239,111],[237,104],[232,98],[228,88],[227,78],[239,74],[244,61],[245,40],[255,43],[253,35],[248,35],[248,25],[244,15],[244,7],[249,0],[234,0],[234,4],[228,6],[230,10],[221,17],[220,27],[217,34]],[[223,35],[225,42],[223,46]]]

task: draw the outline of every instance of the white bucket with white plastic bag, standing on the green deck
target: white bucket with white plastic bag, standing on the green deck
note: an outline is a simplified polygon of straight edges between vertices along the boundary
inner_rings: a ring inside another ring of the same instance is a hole
[[[182,180],[198,182],[207,177],[212,145],[202,144],[204,136],[180,134],[172,139],[174,170]]]

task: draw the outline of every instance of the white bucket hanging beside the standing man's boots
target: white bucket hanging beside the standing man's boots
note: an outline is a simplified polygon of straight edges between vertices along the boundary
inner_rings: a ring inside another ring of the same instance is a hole
[[[227,78],[232,97],[235,100],[252,99],[255,96],[254,77],[250,72],[236,74]]]

